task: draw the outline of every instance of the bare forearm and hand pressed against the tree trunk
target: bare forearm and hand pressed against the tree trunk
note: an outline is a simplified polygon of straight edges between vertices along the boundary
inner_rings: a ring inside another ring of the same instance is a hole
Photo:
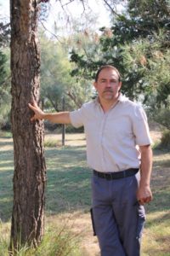
[[[34,116],[31,118],[31,121],[36,119],[47,119],[52,123],[65,125],[71,124],[69,112],[44,113],[42,109],[37,106],[37,102],[33,102],[33,104],[29,103],[28,106],[34,111]]]

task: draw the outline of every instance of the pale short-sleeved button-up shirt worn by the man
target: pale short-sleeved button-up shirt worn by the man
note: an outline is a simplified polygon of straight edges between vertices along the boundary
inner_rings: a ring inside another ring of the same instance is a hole
[[[88,166],[98,172],[120,172],[139,168],[137,145],[151,143],[144,109],[119,96],[116,106],[104,113],[96,99],[70,113],[71,124],[84,126]]]

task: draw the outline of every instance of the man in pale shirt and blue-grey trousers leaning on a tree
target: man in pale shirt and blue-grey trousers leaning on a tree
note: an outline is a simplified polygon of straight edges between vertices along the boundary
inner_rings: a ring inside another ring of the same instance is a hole
[[[29,105],[34,119],[84,125],[88,166],[93,171],[94,228],[101,256],[139,256],[144,227],[144,203],[152,199],[152,151],[143,108],[120,93],[120,73],[105,65],[96,74],[98,98],[82,108],[43,113]],[[139,172],[140,177],[139,177]]]

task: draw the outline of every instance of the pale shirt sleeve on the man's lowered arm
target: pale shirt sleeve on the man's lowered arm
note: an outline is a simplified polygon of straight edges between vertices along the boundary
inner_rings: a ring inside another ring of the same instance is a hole
[[[146,113],[144,112],[144,108],[139,105],[134,108],[133,133],[137,145],[144,146],[152,143]]]

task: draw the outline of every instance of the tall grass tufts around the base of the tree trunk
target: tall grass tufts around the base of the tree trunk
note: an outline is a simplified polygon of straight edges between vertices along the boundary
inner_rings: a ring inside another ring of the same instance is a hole
[[[9,224],[1,224],[0,227],[3,234],[0,236],[0,255],[8,256]],[[78,236],[72,234],[68,224],[48,225],[39,247],[21,247],[17,256],[82,256],[78,242]]]

